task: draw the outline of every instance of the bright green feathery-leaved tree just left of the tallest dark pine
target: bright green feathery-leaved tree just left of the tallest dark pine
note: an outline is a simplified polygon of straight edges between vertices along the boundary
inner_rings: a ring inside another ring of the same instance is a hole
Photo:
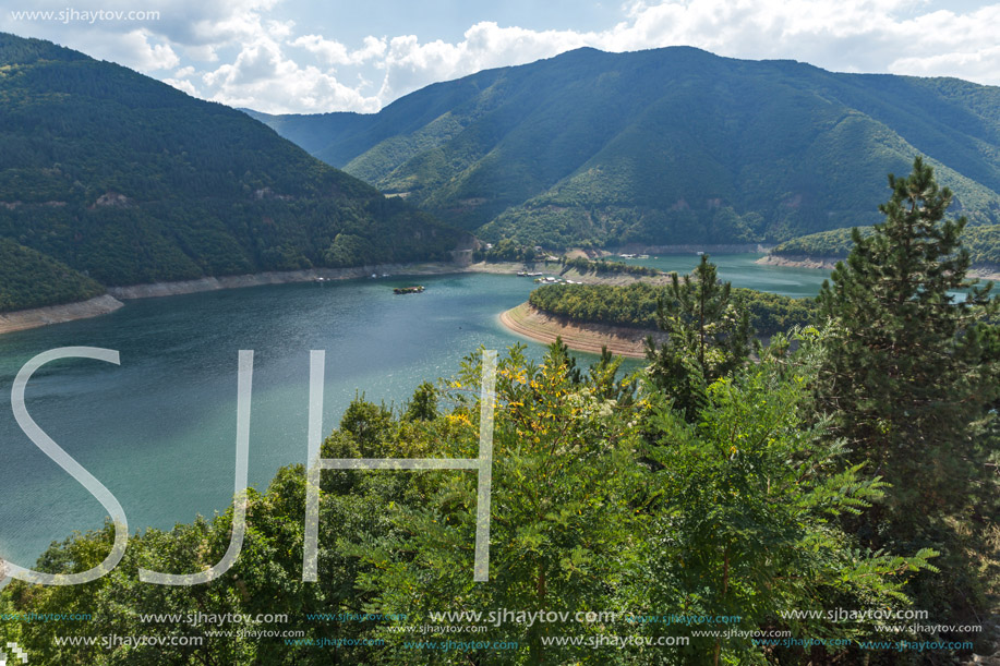
[[[865,552],[840,529],[839,516],[869,507],[885,484],[862,479],[862,465],[845,467],[843,441],[831,446],[826,421],[812,420],[822,339],[811,329],[796,341],[802,347],[790,354],[779,336],[760,364],[713,382],[694,423],[668,404],[649,419],[654,440],[647,456],[659,471],[648,482],[651,524],[631,596],[653,611],[739,616],[724,626],[680,628],[690,644],[666,651],[670,663],[769,663],[749,638],[722,641],[704,637],[707,628],[739,628],[747,637],[778,628],[799,637],[865,637],[867,627],[781,614],[905,606],[908,574],[933,569],[930,549],[909,558]]]

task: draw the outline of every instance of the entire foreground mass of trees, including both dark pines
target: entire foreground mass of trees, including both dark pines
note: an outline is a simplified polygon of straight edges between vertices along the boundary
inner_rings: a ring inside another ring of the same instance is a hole
[[[992,650],[976,628],[1000,602],[1000,328],[986,324],[1000,299],[966,281],[950,201],[917,160],[823,287],[824,324],[756,359],[747,301],[703,258],[666,288],[667,337],[644,370],[623,375],[607,353],[585,368],[557,341],[541,362],[473,351],[397,411],[357,398],[322,458],[477,458],[492,427],[486,582],[481,475],[314,460],[238,496],[250,529],[219,578],[137,576],[220,561],[232,509],[136,534],[92,582],[13,581],[0,613],[91,619],[3,622],[0,640],[60,665],[905,665]],[[53,544],[37,567],[95,567],[115,531]],[[205,613],[246,619],[176,619]],[[164,642],[67,643],[95,633]]]

